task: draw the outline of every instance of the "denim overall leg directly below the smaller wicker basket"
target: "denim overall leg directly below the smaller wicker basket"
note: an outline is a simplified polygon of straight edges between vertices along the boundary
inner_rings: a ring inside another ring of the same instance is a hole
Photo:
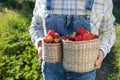
[[[42,62],[44,80],[66,80],[65,72],[61,63]]]

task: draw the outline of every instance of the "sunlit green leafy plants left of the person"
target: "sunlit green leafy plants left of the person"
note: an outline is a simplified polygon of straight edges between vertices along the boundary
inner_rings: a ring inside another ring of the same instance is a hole
[[[28,32],[30,20],[5,11],[0,19],[0,80],[42,80],[41,61]]]

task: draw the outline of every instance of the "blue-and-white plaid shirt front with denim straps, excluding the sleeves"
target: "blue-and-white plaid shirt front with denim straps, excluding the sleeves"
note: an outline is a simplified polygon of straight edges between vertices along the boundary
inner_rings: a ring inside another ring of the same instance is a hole
[[[98,35],[102,21],[101,17],[104,14],[103,1],[104,0],[44,0],[40,1],[43,7],[40,11],[48,15],[89,15],[91,32]]]

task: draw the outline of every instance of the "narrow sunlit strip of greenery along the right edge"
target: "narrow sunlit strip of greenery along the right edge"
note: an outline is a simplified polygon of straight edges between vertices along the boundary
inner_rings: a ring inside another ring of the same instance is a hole
[[[117,40],[113,48],[113,58],[114,61],[112,61],[112,64],[114,67],[112,68],[112,73],[108,75],[107,80],[119,80],[120,79],[120,25],[116,25],[116,34],[117,34]]]

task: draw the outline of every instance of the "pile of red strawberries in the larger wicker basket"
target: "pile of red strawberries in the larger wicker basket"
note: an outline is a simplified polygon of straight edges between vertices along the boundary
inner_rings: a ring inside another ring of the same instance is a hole
[[[65,41],[85,41],[92,40],[95,38],[95,34],[89,32],[84,28],[78,28],[77,31],[73,32],[70,36],[64,37]]]

